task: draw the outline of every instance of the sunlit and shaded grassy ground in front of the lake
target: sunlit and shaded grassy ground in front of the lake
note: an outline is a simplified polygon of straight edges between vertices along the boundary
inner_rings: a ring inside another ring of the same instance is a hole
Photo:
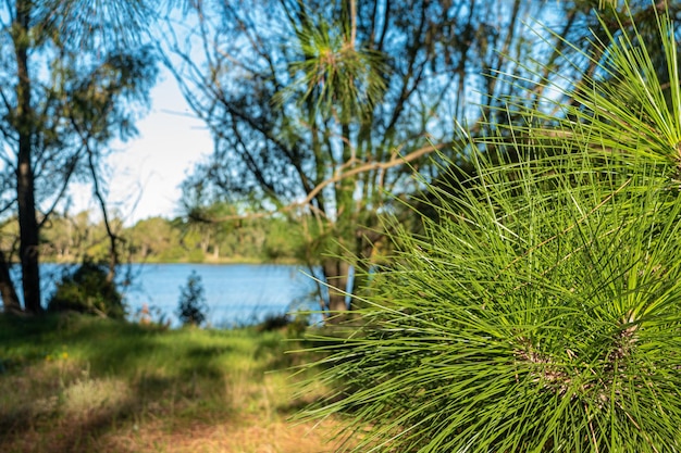
[[[0,316],[0,452],[332,452],[283,332]],[[313,429],[314,428],[314,429]]]

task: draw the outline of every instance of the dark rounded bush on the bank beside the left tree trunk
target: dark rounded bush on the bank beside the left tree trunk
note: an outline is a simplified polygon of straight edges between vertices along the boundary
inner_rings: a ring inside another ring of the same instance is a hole
[[[123,298],[115,284],[107,279],[104,265],[84,262],[66,270],[48,301],[48,311],[74,311],[115,319],[125,317]]]

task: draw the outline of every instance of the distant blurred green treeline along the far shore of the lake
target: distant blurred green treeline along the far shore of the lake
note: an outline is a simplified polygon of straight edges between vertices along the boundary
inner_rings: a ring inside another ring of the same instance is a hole
[[[132,227],[114,219],[112,226],[122,239],[119,246],[122,261],[228,263],[298,262],[301,259],[300,228],[280,217],[223,223],[151,217]],[[0,226],[0,243],[4,250],[15,249],[11,242],[17,229],[14,218]],[[92,222],[88,212],[73,216],[53,214],[41,229],[40,259],[44,262],[74,263],[86,257],[106,261],[109,253],[104,224]]]

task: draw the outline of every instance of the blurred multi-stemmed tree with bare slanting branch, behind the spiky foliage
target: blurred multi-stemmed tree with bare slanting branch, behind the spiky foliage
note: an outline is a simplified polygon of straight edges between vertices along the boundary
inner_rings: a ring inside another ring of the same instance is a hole
[[[411,169],[437,177],[429,154],[449,153],[455,122],[487,134],[483,119],[517,89],[499,78],[527,73],[512,61],[531,62],[544,38],[561,49],[559,38],[522,32],[547,4],[200,2],[191,28],[169,30],[165,43],[166,64],[215,140],[195,180],[304,223],[309,264],[340,289],[332,288],[322,310],[343,312],[343,291],[363,286],[361,278],[348,286],[355,264],[347,259],[374,253],[381,216],[416,189]],[[568,11],[562,35],[577,15]],[[555,66],[561,53],[545,59]],[[523,84],[535,88],[528,103],[545,86]],[[482,113],[470,102],[482,103]]]

